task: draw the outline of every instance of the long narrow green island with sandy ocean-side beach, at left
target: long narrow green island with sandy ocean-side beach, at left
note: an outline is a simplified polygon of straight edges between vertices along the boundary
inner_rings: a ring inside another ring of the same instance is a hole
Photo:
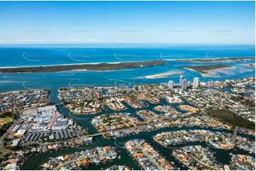
[[[108,71],[116,69],[131,69],[138,67],[157,66],[165,64],[165,61],[135,61],[120,63],[100,63],[100,64],[67,64],[55,66],[24,66],[0,68],[0,73],[34,73],[34,72],[56,72],[71,70],[91,70]]]

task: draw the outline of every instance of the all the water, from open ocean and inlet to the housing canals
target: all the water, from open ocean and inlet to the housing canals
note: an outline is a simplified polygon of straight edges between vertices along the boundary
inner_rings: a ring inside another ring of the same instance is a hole
[[[118,47],[104,45],[102,48],[88,47],[88,46],[33,46],[33,47],[0,47],[0,67],[6,66],[39,66],[39,65],[56,65],[56,64],[82,64],[94,62],[124,62],[124,61],[146,61],[146,60],[163,60],[163,59],[198,59],[198,58],[217,58],[217,57],[255,57],[254,46],[152,46],[152,47]],[[248,61],[252,63],[255,61]],[[60,87],[77,87],[77,86],[128,86],[129,84],[145,84],[145,83],[163,83],[170,79],[178,83],[179,76],[182,74],[188,81],[192,81],[195,76],[198,76],[201,81],[216,81],[233,78],[245,78],[255,76],[255,68],[250,66],[243,66],[241,64],[228,64],[231,66],[238,66],[242,69],[251,69],[252,71],[240,73],[233,71],[232,73],[222,74],[219,78],[204,77],[200,73],[182,69],[180,66],[201,65],[196,63],[186,63],[177,61],[167,61],[167,64],[162,66],[151,66],[137,69],[123,69],[117,71],[62,71],[53,73],[2,73],[0,74],[0,93],[11,90],[36,90],[36,89],[50,89],[52,102],[59,103],[57,100],[57,89]],[[159,73],[171,73],[167,78],[142,78]],[[162,101],[166,104],[165,100]],[[134,114],[135,110],[128,105],[128,110]],[[155,105],[150,105],[148,110],[152,110]],[[174,107],[176,107],[174,105]],[[99,114],[92,114],[87,116],[77,116],[69,112],[65,107],[59,107],[65,116],[77,120],[82,126],[89,129],[91,133],[95,133],[96,129],[91,125],[91,118]],[[113,113],[106,107],[106,113]],[[159,146],[152,140],[152,136],[161,131],[173,131],[178,129],[195,129],[195,128],[167,128],[149,133],[143,133],[135,136],[128,136],[118,138],[117,140],[106,140],[101,136],[96,137],[96,140],[91,145],[79,146],[79,148],[67,148],[62,151],[55,151],[52,153],[44,153],[40,155],[31,156],[26,160],[22,169],[35,170],[38,165],[48,160],[50,157],[57,157],[66,153],[74,153],[75,151],[82,151],[84,148],[92,148],[94,146],[117,146],[121,151],[121,159],[114,160],[112,163],[105,165],[93,166],[89,169],[98,170],[101,167],[105,168],[111,165],[126,164],[135,170],[139,170],[140,166],[135,163],[133,158],[128,155],[123,144],[132,138],[145,138],[152,146],[162,153],[165,158],[173,161],[175,165],[181,169],[181,164],[177,162],[171,155],[172,149]],[[201,129],[201,128],[200,128]],[[215,130],[215,129],[211,129]],[[253,137],[250,137],[253,138]],[[254,138],[253,138],[254,139]],[[206,146],[205,143],[193,143]],[[211,148],[216,152],[216,159],[221,163],[229,163],[229,153],[244,153],[245,151],[230,150],[221,151]]]

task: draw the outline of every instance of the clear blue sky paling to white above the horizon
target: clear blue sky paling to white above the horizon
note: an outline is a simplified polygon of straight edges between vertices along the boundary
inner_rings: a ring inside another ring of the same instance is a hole
[[[255,1],[0,1],[0,44],[255,44]]]

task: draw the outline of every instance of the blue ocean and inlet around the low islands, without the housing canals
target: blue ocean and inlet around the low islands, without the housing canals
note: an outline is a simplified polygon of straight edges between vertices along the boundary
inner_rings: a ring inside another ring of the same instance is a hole
[[[46,66],[59,64],[92,64],[165,60],[162,66],[121,69],[116,71],[59,71],[52,73],[0,73],[0,92],[10,90],[56,89],[65,86],[123,86],[129,84],[179,81],[182,74],[188,81],[195,76],[200,81],[216,81],[255,76],[255,68],[238,64],[250,71],[230,71],[216,77],[180,66],[204,65],[170,59],[204,59],[255,57],[254,45],[30,45],[1,46],[0,67]],[[248,61],[252,63],[255,61]],[[165,76],[155,76],[164,74]],[[148,77],[150,76],[150,77]]]

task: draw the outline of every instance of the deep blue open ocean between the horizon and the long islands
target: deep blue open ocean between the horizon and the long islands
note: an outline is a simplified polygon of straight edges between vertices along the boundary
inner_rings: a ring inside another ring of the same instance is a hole
[[[153,47],[72,47],[34,46],[3,47],[0,46],[0,67],[36,66],[56,64],[80,64],[94,62],[146,61],[165,59],[221,58],[221,57],[255,57],[255,46],[153,46]]]

